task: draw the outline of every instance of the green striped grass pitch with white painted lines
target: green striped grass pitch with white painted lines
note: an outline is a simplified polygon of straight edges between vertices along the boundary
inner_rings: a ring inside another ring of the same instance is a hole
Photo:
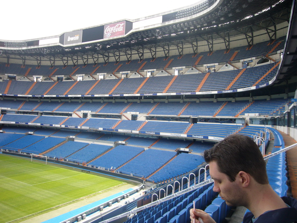
[[[0,154],[0,223],[73,201],[120,180]]]

